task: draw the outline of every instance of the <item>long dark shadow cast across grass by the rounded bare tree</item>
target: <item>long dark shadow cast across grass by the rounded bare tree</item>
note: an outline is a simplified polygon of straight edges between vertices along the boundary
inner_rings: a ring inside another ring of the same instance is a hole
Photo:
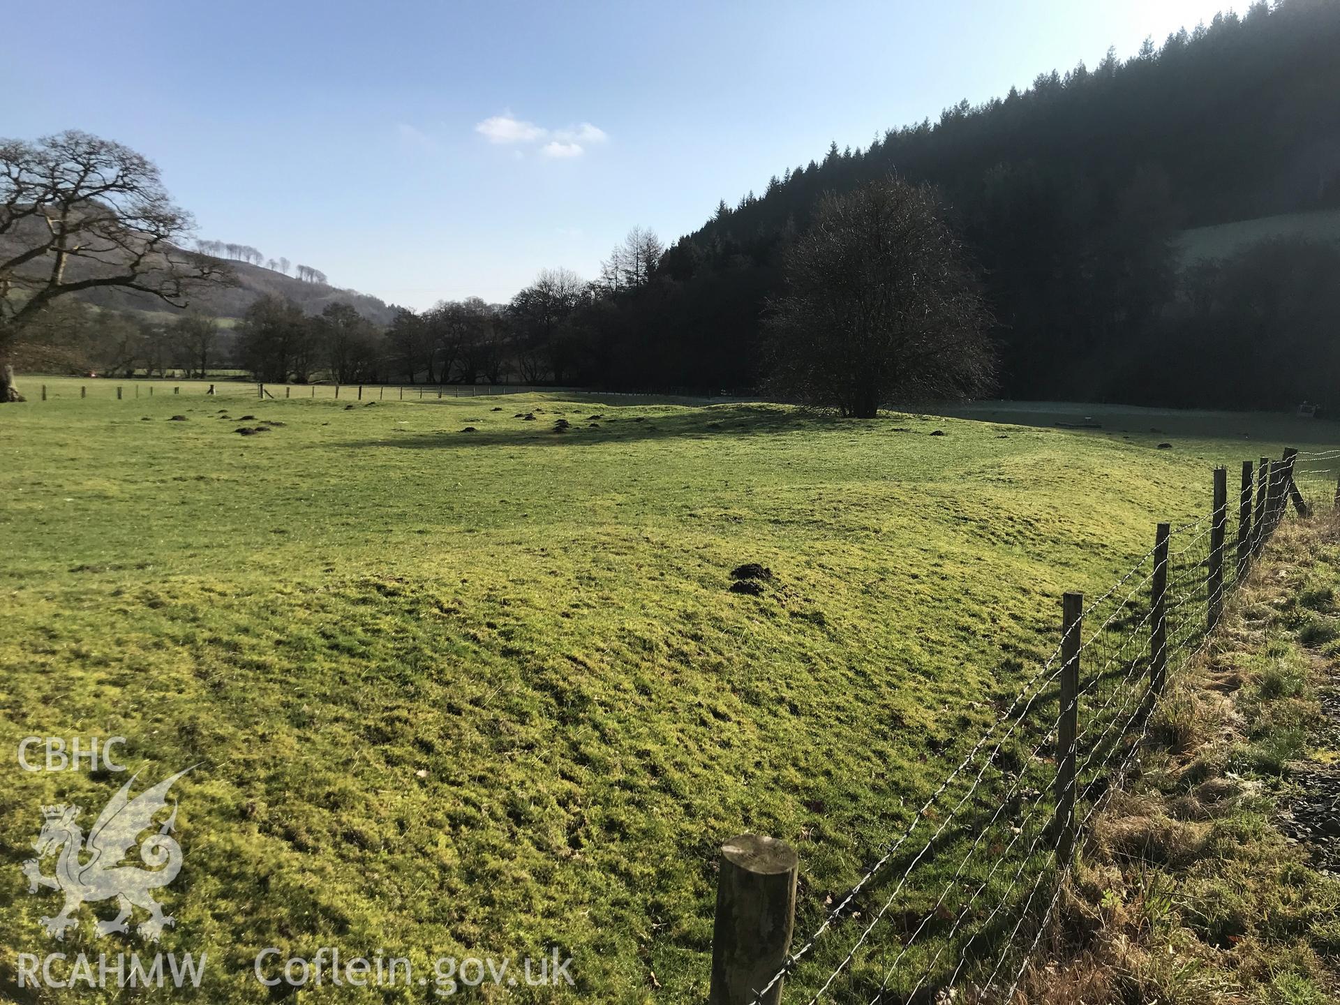
[[[714,437],[775,436],[795,430],[816,430],[855,425],[855,419],[840,419],[792,409],[761,405],[729,405],[710,409],[686,409],[682,413],[655,415],[610,414],[612,409],[591,413],[565,409],[545,409],[532,413],[533,419],[509,417],[505,429],[464,431],[469,419],[461,419],[462,430],[440,433],[393,433],[385,438],[354,441],[350,446],[398,446],[407,450],[450,450],[474,446],[595,446],[649,440],[712,440]],[[555,422],[567,419],[565,430],[557,431]],[[476,422],[481,419],[474,419]],[[871,419],[863,422],[890,422]]]

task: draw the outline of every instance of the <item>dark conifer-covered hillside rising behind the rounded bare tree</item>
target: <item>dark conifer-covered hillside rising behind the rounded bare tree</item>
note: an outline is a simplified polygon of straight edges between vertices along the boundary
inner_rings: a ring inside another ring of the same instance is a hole
[[[935,188],[980,267],[1004,397],[1143,402],[1160,375],[1156,403],[1182,403],[1198,386],[1193,374],[1162,377],[1168,347],[1187,338],[1178,239],[1340,208],[1336,0],[1253,3],[1128,59],[1041,72],[1026,90],[961,102],[864,149],[833,143],[807,165],[777,165],[757,192],[722,201],[669,248],[657,283],[619,297],[591,343],[600,379],[756,386],[761,320],[785,288],[796,234],[825,194],[892,173]],[[1294,299],[1317,302],[1313,293]],[[1276,362],[1274,371],[1297,368]],[[1301,397],[1300,387],[1258,395]]]

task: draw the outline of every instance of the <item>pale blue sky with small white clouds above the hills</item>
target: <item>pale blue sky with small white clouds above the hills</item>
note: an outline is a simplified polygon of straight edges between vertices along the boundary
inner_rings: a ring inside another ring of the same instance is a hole
[[[427,307],[594,277],[725,198],[1222,0],[15,5],[0,135],[83,129],[154,158],[200,234]],[[72,28],[70,27],[72,25]],[[109,58],[114,56],[114,58]]]

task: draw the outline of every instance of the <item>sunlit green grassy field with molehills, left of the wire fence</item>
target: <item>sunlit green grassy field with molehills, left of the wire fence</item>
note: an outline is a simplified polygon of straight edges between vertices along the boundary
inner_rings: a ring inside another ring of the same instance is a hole
[[[236,1002],[261,947],[331,945],[557,946],[578,1000],[705,1000],[724,839],[796,846],[803,927],[1051,651],[1064,590],[1202,515],[1211,465],[1340,444],[1253,415],[43,403],[35,382],[4,415],[0,748],[115,734],[146,780],[198,762],[161,945],[208,951],[208,1000]],[[749,561],[760,596],[729,590]],[[0,980],[50,951],[20,871],[39,807],[91,819],[109,792],[0,791]],[[59,949],[100,951],[88,923]],[[304,992],[398,1000],[359,994]]]

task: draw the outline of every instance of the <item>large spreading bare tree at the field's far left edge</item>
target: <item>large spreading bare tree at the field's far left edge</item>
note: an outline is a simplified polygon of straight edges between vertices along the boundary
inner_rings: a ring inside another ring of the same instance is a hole
[[[13,401],[8,356],[52,300],[99,287],[185,307],[200,283],[229,281],[189,252],[193,221],[158,168],[87,133],[0,141],[0,402]]]

